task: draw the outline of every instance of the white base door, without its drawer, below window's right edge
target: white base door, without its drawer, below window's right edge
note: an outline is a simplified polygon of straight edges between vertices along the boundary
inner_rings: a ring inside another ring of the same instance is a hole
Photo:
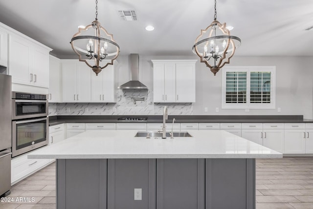
[[[263,146],[284,153],[284,130],[263,129]]]

